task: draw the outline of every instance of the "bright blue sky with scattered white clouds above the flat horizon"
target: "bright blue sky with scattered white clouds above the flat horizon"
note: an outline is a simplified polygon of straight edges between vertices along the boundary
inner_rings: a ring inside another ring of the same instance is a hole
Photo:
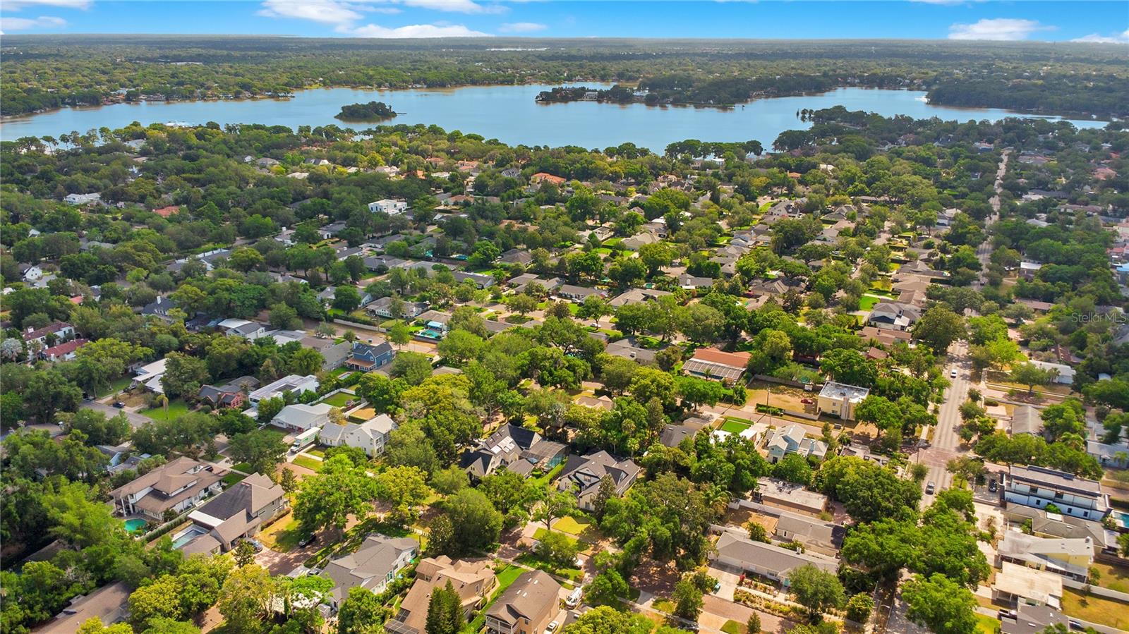
[[[1039,39],[1129,44],[1114,1],[3,0],[12,33]]]

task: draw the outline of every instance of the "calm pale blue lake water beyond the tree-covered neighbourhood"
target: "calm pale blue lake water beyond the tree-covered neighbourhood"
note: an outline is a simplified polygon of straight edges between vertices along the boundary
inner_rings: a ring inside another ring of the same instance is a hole
[[[596,86],[589,83],[588,86]],[[0,139],[43,137],[102,126],[117,129],[134,121],[202,124],[261,123],[266,125],[324,125],[335,123],[364,130],[370,124],[343,123],[333,118],[345,104],[384,102],[404,114],[392,123],[436,124],[445,130],[482,134],[508,144],[580,146],[606,148],[623,142],[662,152],[671,142],[759,140],[772,144],[785,130],[808,127],[799,121],[800,108],[835,105],[850,111],[876,112],[884,116],[946,120],[992,120],[1016,115],[992,108],[953,108],[925,103],[925,93],[840,88],[822,95],[760,99],[732,109],[654,107],[642,104],[614,105],[595,102],[537,104],[537,93],[551,86],[488,86],[452,89],[353,90],[326,88],[304,90],[290,99],[245,102],[176,102],[116,104],[89,108],[64,108],[0,124]],[[1057,117],[1049,117],[1057,118]],[[1100,127],[1097,121],[1074,121],[1079,127]]]

